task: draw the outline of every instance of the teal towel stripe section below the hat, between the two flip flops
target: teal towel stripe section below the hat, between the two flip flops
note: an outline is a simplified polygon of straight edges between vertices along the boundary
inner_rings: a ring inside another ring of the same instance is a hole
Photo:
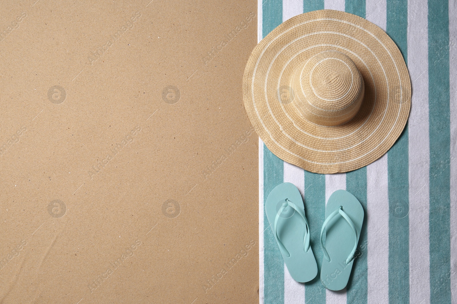
[[[316,258],[319,273],[312,281],[305,283],[305,302],[325,304],[325,288],[320,282],[322,250],[320,249],[320,228],[325,220],[325,175],[305,170],[305,214],[309,223],[310,243]]]

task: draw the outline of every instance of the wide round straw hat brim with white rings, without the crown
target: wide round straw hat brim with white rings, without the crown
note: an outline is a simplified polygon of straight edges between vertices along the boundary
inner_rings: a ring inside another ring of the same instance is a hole
[[[327,50],[350,57],[365,83],[356,116],[332,127],[304,119],[281,96],[295,68]],[[243,99],[260,139],[280,159],[315,173],[347,172],[377,160],[398,139],[409,116],[411,82],[399,48],[381,28],[342,11],[316,10],[285,21],[255,46]]]

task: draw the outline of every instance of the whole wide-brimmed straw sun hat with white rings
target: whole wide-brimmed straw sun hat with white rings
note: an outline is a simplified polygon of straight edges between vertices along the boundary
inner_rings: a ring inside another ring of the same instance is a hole
[[[347,172],[392,147],[408,119],[411,83],[382,29],[316,10],[282,23],[254,48],[243,99],[276,156],[311,172]]]

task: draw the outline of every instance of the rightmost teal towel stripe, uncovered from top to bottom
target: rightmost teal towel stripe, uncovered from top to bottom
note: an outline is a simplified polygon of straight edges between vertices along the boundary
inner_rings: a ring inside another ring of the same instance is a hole
[[[449,20],[447,0],[428,1],[430,303],[451,303]]]

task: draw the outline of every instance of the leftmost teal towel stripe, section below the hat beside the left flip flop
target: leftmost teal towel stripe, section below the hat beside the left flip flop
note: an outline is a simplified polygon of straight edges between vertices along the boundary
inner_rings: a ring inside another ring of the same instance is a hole
[[[263,147],[263,197],[264,206],[268,194],[284,180],[284,163],[264,144]],[[264,208],[265,210],[265,208]],[[284,303],[284,260],[279,252],[275,237],[269,227],[266,213],[264,221],[264,303]]]

